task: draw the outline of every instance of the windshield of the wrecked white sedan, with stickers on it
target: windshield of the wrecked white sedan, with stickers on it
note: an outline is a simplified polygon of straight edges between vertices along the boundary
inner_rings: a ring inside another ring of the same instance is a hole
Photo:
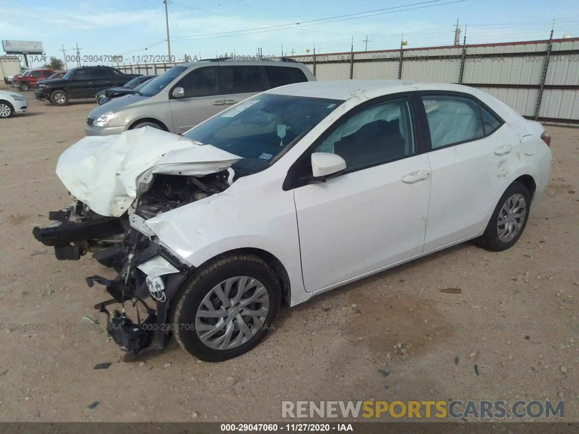
[[[261,94],[221,112],[184,137],[243,157],[249,172],[264,170],[276,156],[342,104],[340,100]],[[251,168],[250,168],[251,167]]]

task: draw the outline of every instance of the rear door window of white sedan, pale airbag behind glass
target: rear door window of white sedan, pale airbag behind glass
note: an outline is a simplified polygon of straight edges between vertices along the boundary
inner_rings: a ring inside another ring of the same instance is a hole
[[[428,95],[422,97],[432,149],[482,138],[481,111],[470,98]]]

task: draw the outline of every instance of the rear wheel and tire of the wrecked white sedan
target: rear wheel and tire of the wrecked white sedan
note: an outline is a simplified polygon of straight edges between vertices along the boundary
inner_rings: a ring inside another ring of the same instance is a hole
[[[524,201],[524,211],[525,215],[521,217],[520,212],[516,212],[517,209],[519,211],[522,209],[521,207],[521,198]],[[509,203],[507,203],[507,201]],[[494,208],[493,215],[490,217],[489,224],[486,226],[485,233],[482,234],[481,237],[478,238],[477,244],[491,252],[501,252],[503,250],[507,250],[512,247],[521,237],[525,227],[527,226],[527,220],[529,219],[529,208],[531,205],[531,195],[527,187],[525,187],[520,182],[513,182],[510,186],[508,186],[507,190],[501,196],[499,203],[497,204],[496,208]],[[505,210],[503,210],[505,207]],[[515,214],[511,214],[514,219],[507,214],[507,209],[511,208],[515,211]],[[507,222],[512,221],[513,227],[512,231],[507,229],[507,225],[499,226],[499,216],[505,217]],[[518,217],[516,217],[518,216]],[[518,227],[518,231],[514,233],[514,229],[516,226]],[[508,230],[507,236],[500,236],[499,233],[504,233],[505,230]]]

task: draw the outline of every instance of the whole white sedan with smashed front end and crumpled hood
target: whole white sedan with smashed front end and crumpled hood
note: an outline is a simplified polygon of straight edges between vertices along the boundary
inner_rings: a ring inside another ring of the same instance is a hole
[[[113,315],[123,350],[162,348],[172,332],[224,361],[255,347],[281,305],[475,238],[510,248],[547,185],[550,142],[471,87],[291,84],[182,137],[83,138],[57,166],[74,206],[34,235],[58,259],[97,251],[119,271],[87,278],[113,296],[101,311],[153,299],[142,324]]]

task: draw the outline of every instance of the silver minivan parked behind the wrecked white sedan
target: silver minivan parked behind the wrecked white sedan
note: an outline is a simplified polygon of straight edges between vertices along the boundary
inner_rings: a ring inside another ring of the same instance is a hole
[[[184,63],[89,113],[86,135],[120,134],[150,126],[181,134],[228,106],[273,87],[315,81],[301,63],[209,60]]]

